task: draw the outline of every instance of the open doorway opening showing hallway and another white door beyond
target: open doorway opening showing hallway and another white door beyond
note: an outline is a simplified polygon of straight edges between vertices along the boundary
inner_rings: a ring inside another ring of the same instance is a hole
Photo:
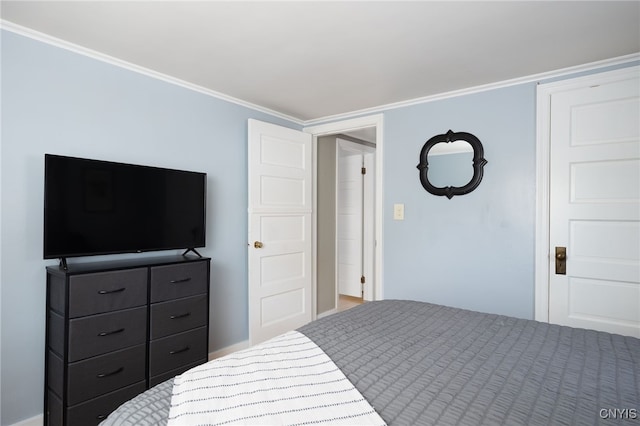
[[[374,300],[375,127],[317,139],[318,316]]]

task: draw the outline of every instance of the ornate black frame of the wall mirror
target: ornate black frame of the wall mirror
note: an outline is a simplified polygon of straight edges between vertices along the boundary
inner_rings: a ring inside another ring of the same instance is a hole
[[[436,144],[450,143],[459,140],[468,142],[473,148],[473,176],[471,177],[471,180],[464,186],[445,186],[443,188],[433,186],[431,182],[429,182],[428,176],[429,161],[427,156],[429,155],[429,151]],[[482,148],[480,139],[471,133],[454,133],[449,130],[447,133],[432,137],[424,144],[420,151],[420,164],[418,164],[417,167],[418,170],[420,170],[420,183],[422,183],[424,189],[433,195],[445,195],[447,198],[451,199],[454,195],[468,194],[480,185],[482,175],[484,173],[483,167],[485,164],[487,164],[487,160],[484,159],[484,149]]]

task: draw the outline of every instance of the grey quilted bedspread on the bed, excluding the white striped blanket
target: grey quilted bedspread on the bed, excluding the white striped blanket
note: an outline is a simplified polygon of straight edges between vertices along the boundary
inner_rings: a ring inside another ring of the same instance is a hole
[[[402,300],[365,303],[297,331],[389,425],[640,422],[637,338]],[[166,425],[173,381],[102,425]]]

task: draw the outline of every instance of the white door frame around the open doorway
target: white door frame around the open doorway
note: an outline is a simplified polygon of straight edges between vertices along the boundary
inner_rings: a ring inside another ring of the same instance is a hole
[[[302,129],[303,132],[311,133],[313,135],[313,213],[312,213],[312,229],[313,229],[313,241],[317,241],[317,183],[318,183],[318,138],[326,135],[333,135],[336,133],[344,133],[352,130],[363,129],[366,127],[376,128],[376,157],[375,157],[375,267],[374,267],[374,288],[373,288],[373,300],[382,300],[384,298],[384,286],[383,286],[383,199],[384,188],[383,182],[383,160],[384,160],[384,115],[374,114],[365,117],[352,118],[347,120],[335,121],[332,123],[319,124],[314,126],[308,126]],[[313,270],[317,271],[317,247],[313,244]],[[318,291],[317,274],[313,274],[312,282],[312,295],[313,295],[313,318],[317,317],[316,297]],[[337,309],[337,306],[336,306]]]

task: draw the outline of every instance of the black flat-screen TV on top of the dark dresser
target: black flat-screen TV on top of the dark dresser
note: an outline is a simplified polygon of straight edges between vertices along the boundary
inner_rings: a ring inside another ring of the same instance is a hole
[[[45,154],[44,258],[204,247],[206,180]]]

